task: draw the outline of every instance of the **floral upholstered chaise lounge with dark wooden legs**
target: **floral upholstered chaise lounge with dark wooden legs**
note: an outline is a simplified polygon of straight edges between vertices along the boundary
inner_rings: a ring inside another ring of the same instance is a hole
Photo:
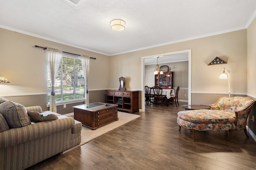
[[[181,127],[192,129],[193,141],[195,131],[229,131],[229,141],[232,142],[232,132],[244,129],[246,137],[249,137],[246,122],[254,102],[248,97],[221,97],[209,105],[210,109],[179,111],[179,131]]]

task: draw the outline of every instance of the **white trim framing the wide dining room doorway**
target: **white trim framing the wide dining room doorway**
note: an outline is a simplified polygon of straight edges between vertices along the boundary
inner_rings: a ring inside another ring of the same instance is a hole
[[[170,53],[163,53],[163,54],[156,54],[156,55],[150,55],[150,56],[145,56],[145,57],[141,57],[141,84],[142,84],[142,93],[141,93],[141,111],[145,111],[145,59],[147,58],[151,58],[154,56],[165,56],[165,55],[172,55],[172,54],[179,54],[179,53],[188,53],[188,104],[191,104],[191,49],[188,50],[182,50],[182,51],[174,51],[174,52],[170,52]]]

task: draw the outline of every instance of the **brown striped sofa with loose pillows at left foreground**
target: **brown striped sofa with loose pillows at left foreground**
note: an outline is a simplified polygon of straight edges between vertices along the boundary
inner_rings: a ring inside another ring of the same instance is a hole
[[[80,144],[81,129],[72,117],[0,98],[0,170],[23,170]]]

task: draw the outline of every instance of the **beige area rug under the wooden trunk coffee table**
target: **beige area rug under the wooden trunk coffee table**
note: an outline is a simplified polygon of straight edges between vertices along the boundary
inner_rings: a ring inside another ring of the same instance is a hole
[[[140,117],[140,115],[134,115],[131,113],[124,113],[124,112],[118,111],[118,121],[114,121],[112,123],[99,127],[96,130],[91,130],[88,127],[82,126],[81,143],[79,145],[76,145],[75,147],[72,147],[68,150],[61,152],[60,154],[64,154],[72,149],[80,147],[81,145],[84,145],[85,143],[91,141],[92,139],[95,139],[109,131],[112,131],[113,129],[116,129],[134,119],[137,119],[138,117]]]

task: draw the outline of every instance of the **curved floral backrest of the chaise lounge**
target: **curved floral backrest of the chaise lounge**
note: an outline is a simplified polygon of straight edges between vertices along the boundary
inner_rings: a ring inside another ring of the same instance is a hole
[[[241,96],[221,97],[215,104],[210,105],[210,107],[213,110],[240,111],[253,101],[250,98]]]

